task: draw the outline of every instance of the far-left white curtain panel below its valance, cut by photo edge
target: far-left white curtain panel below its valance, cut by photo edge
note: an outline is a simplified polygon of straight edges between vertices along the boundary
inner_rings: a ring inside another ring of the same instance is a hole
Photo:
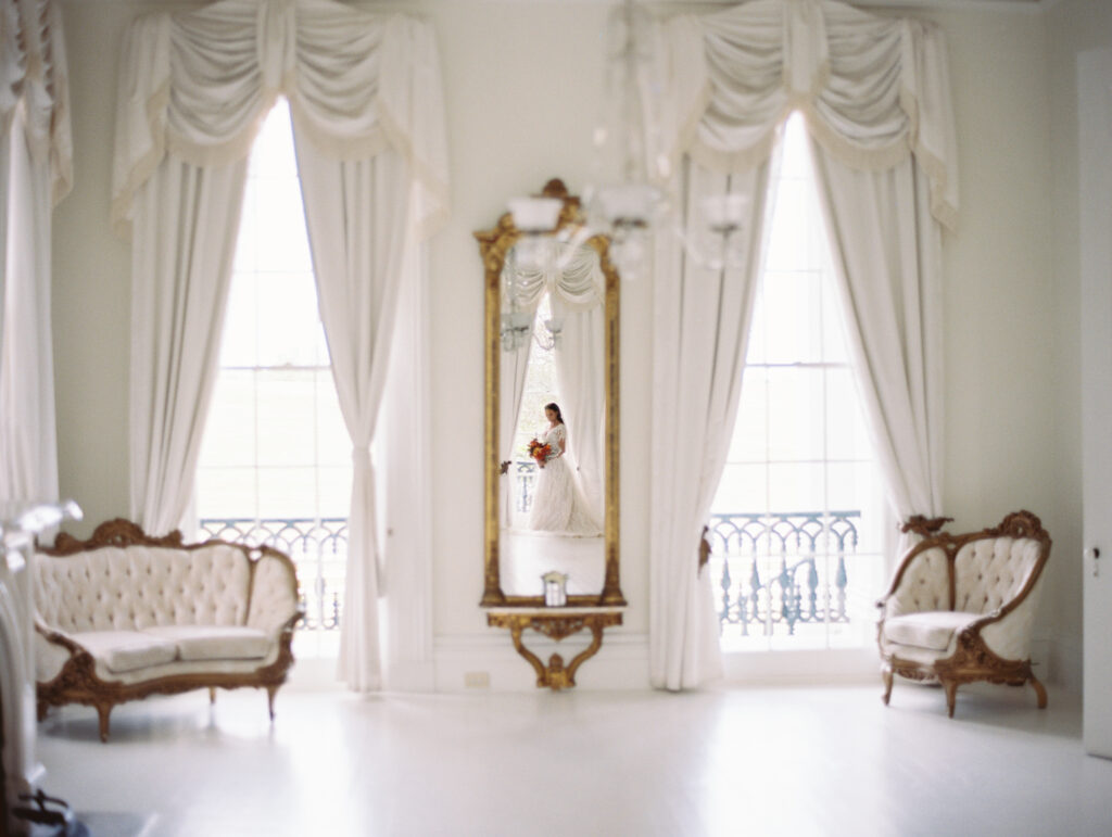
[[[58,499],[53,347],[50,328],[50,166],[28,143],[18,108],[6,280],[0,283],[0,500]]]

